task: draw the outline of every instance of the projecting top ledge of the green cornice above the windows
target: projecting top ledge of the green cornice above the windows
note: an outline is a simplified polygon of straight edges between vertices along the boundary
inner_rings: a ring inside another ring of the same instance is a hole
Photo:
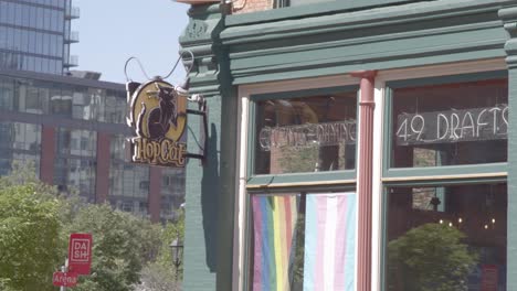
[[[397,24],[410,25],[433,20],[443,21],[444,19],[455,19],[457,21],[456,24],[466,24],[469,21],[476,23],[478,21],[462,17],[497,13],[506,2],[508,0],[413,2],[404,6],[352,12],[337,13],[336,11],[331,11],[327,15],[310,15],[307,13],[293,20],[272,19],[263,23],[253,24],[243,22],[239,23],[239,25],[231,25],[231,20],[235,17],[249,15],[229,15],[226,20],[228,29],[221,33],[221,37],[225,44],[239,44],[257,40],[271,41],[299,35],[319,35],[321,33],[336,33]],[[492,20],[497,20],[497,18],[492,18]],[[444,23],[442,22],[442,24]],[[441,26],[436,25],[436,28]],[[362,33],[359,33],[359,35]]]

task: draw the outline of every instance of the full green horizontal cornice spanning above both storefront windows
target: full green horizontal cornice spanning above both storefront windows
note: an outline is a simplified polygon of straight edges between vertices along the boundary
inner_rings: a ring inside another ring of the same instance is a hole
[[[234,23],[221,39],[234,84],[503,57],[497,11],[507,2],[426,1]]]

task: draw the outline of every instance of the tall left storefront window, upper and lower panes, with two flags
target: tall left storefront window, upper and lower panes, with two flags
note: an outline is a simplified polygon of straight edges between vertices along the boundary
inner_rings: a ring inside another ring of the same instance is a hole
[[[251,95],[250,120],[245,289],[348,290],[357,87]]]

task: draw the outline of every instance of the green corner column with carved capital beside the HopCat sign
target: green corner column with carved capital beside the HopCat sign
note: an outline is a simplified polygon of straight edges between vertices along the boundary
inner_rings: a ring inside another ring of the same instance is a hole
[[[231,290],[233,203],[236,180],[238,98],[231,87],[226,52],[219,34],[228,7],[193,6],[180,43],[194,55],[190,93],[207,100],[208,131],[204,164],[190,159],[186,182],[183,290]],[[188,54],[183,54],[188,58]],[[198,109],[190,104],[191,109]],[[202,146],[202,120],[189,116],[188,151]]]

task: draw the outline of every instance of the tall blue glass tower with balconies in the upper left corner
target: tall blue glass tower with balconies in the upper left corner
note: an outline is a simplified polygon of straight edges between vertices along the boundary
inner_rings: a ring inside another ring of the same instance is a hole
[[[77,66],[78,17],[71,0],[0,0],[0,68],[61,75]]]

